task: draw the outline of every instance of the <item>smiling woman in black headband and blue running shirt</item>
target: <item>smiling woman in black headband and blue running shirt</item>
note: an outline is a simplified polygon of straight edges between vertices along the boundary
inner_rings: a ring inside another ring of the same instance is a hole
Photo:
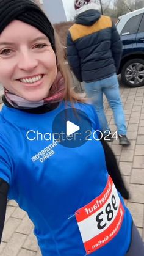
[[[43,256],[143,255],[101,142],[92,136],[99,130],[95,111],[70,91],[51,23],[29,0],[0,0],[0,64],[1,232],[9,190],[34,223]],[[92,123],[81,147],[64,147],[62,137],[50,136],[57,115],[59,130],[61,113],[66,117],[70,109],[77,120]]]

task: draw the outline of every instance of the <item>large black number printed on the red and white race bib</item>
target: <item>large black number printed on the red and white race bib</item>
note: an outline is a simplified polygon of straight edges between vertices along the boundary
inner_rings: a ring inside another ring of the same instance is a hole
[[[116,211],[117,208],[118,208],[118,206],[117,206],[117,202],[115,200],[115,196],[112,195],[111,202],[109,202],[106,205],[105,210],[98,213],[98,215],[95,218],[96,222],[97,222],[98,229],[104,229],[104,227],[106,227],[106,225],[107,225],[107,222],[112,221],[113,211]],[[104,215],[106,216],[105,222],[104,222],[104,218],[103,218]]]

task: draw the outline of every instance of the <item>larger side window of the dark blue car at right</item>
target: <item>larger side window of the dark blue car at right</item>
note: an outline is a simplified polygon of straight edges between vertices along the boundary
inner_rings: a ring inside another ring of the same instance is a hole
[[[130,18],[121,31],[121,35],[130,35],[137,33],[139,28],[140,20],[142,19],[143,13]]]

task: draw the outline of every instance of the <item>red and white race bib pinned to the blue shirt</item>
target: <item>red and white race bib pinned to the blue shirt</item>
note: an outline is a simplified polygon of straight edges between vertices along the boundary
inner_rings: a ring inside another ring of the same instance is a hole
[[[95,252],[117,235],[124,208],[110,176],[104,191],[77,210],[75,216],[87,254]]]

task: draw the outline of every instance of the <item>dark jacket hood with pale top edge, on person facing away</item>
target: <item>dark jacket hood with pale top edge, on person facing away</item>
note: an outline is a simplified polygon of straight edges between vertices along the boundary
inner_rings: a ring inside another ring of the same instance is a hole
[[[96,10],[96,7],[96,4],[88,4],[78,9],[74,22],[85,26],[92,26],[101,17],[101,13]]]

